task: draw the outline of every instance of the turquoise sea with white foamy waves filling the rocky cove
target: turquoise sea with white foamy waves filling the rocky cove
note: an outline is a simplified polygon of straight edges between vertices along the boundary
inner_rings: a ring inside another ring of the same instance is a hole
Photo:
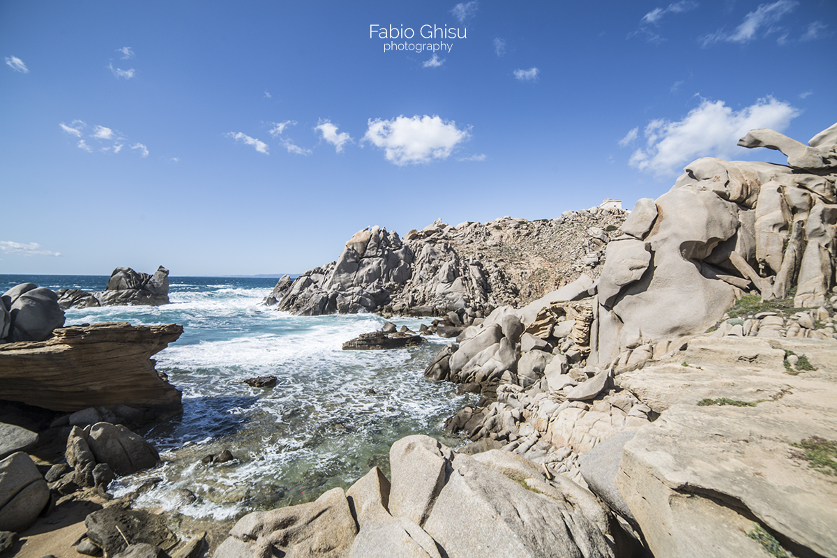
[[[103,290],[107,276],[0,275],[0,292],[31,282],[49,289]],[[295,316],[264,305],[276,279],[170,277],[172,304],[66,311],[66,325],[181,324],[183,335],[153,358],[182,391],[182,416],[138,431],[162,464],[110,484],[120,496],[143,487],[136,507],[205,520],[235,520],[256,510],[302,504],[344,489],[372,466],[389,474],[388,451],[409,434],[450,447],[444,420],[467,403],[423,371],[449,341],[388,351],[343,351],[379,330],[371,314]],[[419,330],[429,319],[391,318]],[[244,384],[276,376],[273,388]],[[203,463],[229,450],[227,463]]]

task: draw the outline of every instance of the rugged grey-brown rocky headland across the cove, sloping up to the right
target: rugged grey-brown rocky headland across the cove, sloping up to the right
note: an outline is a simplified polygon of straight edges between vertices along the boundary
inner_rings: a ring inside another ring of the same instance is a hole
[[[593,207],[550,220],[437,221],[403,238],[367,228],[336,262],[293,283],[280,279],[266,302],[300,315],[392,312],[471,318],[501,305],[525,305],[578,279],[598,277],[604,248],[627,212]]]

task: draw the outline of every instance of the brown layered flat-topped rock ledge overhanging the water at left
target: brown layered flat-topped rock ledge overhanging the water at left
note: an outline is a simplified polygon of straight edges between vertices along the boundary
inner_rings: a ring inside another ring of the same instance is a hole
[[[182,331],[175,324],[107,323],[0,345],[0,399],[64,412],[123,405],[146,420],[172,417],[182,412],[181,393],[154,369],[151,356]]]

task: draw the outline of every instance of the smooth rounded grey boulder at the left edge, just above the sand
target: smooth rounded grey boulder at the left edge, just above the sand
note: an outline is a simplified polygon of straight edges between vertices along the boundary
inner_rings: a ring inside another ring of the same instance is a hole
[[[47,481],[26,453],[13,453],[0,461],[0,531],[25,530],[47,502]]]

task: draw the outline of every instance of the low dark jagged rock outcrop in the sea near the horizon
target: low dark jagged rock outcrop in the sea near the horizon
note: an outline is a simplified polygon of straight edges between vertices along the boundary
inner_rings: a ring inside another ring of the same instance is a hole
[[[57,292],[59,305],[65,310],[90,306],[167,305],[168,269],[161,265],[149,275],[131,268],[116,268],[103,291],[88,293],[81,289],[59,289]]]

